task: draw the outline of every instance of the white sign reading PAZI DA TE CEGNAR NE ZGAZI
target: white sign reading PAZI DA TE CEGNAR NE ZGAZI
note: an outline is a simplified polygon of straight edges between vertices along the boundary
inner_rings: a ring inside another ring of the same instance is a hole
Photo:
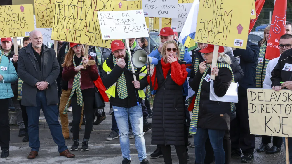
[[[102,39],[149,37],[143,10],[98,12]]]

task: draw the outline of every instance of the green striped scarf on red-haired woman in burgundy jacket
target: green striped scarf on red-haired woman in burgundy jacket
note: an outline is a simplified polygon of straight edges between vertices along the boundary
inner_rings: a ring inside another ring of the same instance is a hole
[[[75,57],[75,54],[73,55],[73,64],[74,64],[74,67],[76,67],[74,57]],[[79,65],[82,65],[82,61]],[[77,105],[80,105],[80,107],[82,107],[83,105],[83,97],[82,97],[81,86],[80,86],[80,76],[81,76],[80,74],[81,74],[80,71],[78,71],[78,73],[74,77],[71,94],[67,101],[63,114],[67,114],[68,108],[69,108],[69,102],[72,96],[74,95],[75,91],[76,91],[76,96],[77,96]]]

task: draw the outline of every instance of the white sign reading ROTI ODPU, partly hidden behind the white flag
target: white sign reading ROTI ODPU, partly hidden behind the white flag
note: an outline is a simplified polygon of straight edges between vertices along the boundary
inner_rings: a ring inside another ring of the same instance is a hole
[[[191,7],[191,3],[178,4],[178,18],[172,18],[171,20],[171,28],[173,29],[173,31],[182,31]]]

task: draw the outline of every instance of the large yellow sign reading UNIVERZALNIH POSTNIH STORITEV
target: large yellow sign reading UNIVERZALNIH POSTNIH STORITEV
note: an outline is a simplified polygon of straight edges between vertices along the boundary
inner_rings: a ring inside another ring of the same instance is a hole
[[[102,39],[97,12],[127,7],[123,0],[56,0],[51,39],[109,48],[112,40]]]

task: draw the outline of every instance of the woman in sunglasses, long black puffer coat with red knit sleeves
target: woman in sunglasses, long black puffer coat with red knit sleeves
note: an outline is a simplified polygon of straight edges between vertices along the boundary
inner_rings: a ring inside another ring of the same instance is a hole
[[[151,144],[159,145],[164,162],[171,164],[171,147],[174,145],[179,164],[187,163],[184,134],[185,109],[183,101],[183,83],[187,78],[185,62],[178,60],[180,54],[174,40],[166,41],[161,49],[162,59],[148,76],[148,82],[157,90],[152,116]],[[149,68],[148,72],[149,72]],[[187,136],[187,135],[186,135]]]

